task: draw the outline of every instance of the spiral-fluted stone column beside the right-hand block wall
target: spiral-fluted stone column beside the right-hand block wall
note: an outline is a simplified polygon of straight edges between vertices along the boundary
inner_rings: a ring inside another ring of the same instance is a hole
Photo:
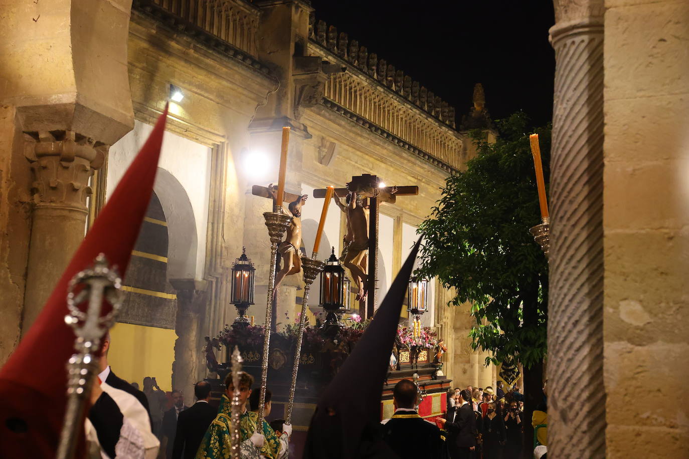
[[[555,0],[548,456],[605,456],[603,0]]]

